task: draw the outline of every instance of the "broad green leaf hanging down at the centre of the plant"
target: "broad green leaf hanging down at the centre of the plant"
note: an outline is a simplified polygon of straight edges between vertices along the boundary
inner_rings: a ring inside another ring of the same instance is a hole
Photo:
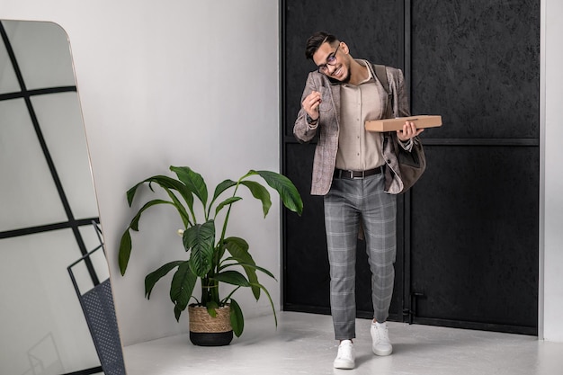
[[[213,266],[213,250],[215,243],[215,223],[209,220],[183,231],[183,246],[192,250],[190,263],[192,271],[199,277],[205,277]]]

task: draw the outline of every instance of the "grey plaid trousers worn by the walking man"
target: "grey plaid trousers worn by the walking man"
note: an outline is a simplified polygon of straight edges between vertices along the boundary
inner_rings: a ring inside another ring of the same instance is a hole
[[[330,304],[335,339],[355,337],[355,263],[360,223],[371,270],[373,317],[385,322],[395,279],[397,197],[383,192],[385,178],[336,179],[325,195],[330,263]]]

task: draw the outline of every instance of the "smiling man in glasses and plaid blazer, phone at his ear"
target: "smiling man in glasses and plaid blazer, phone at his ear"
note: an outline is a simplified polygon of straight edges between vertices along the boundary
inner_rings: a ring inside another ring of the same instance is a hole
[[[352,58],[346,43],[326,32],[308,39],[306,57],[317,70],[308,75],[293,133],[301,142],[319,133],[311,194],[324,196],[330,303],[335,339],[340,340],[334,366],[353,369],[355,252],[362,230],[371,269],[372,351],[393,351],[385,322],[395,278],[394,194],[402,189],[393,146],[382,133],[366,131],[364,122],[408,116],[407,93],[399,69],[387,67],[389,88],[384,87],[370,62]],[[391,137],[410,151],[422,131],[406,122]]]

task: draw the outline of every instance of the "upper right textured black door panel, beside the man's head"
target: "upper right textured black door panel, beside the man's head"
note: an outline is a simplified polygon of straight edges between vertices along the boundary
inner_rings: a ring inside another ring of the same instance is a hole
[[[433,138],[538,138],[540,1],[412,2],[411,108]]]

